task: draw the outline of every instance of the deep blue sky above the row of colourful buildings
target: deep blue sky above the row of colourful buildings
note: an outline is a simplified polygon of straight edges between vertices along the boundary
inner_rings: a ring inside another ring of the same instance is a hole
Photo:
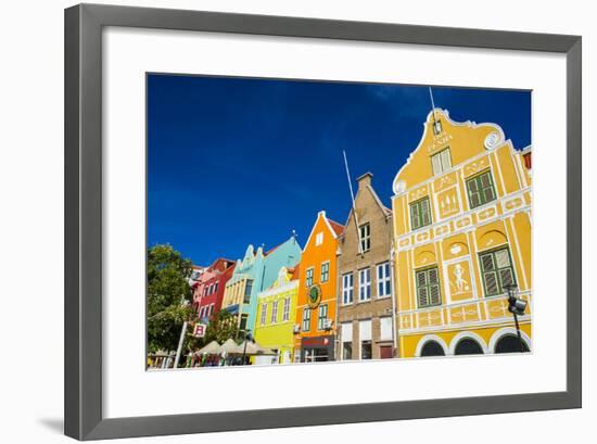
[[[433,87],[457,122],[497,123],[531,143],[529,91]],[[199,265],[242,257],[317,212],[344,224],[353,182],[373,173],[390,206],[392,180],[431,110],[423,86],[148,75],[148,242],[170,243]]]

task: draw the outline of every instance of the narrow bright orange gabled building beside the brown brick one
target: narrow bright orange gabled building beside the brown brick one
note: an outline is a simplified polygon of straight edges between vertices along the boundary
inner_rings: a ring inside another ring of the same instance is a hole
[[[338,237],[344,226],[319,212],[301,256],[294,360],[333,360],[336,334]]]

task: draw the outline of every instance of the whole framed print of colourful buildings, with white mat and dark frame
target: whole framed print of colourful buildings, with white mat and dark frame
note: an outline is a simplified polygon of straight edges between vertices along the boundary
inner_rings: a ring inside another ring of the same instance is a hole
[[[69,436],[581,406],[577,36],[73,7],[65,172]]]

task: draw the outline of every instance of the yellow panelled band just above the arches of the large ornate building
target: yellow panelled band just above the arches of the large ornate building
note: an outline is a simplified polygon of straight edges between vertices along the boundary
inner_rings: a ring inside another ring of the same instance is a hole
[[[519,292],[518,297],[526,301],[526,312],[521,320],[531,316],[531,291]],[[490,296],[462,301],[448,305],[437,305],[398,313],[398,328],[408,332],[439,328],[458,328],[482,325],[501,319],[511,320],[508,312],[508,295]]]

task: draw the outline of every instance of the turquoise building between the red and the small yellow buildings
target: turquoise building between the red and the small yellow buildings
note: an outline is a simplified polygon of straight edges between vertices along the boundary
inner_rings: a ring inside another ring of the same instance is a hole
[[[300,261],[301,246],[294,234],[266,253],[262,246],[255,251],[249,245],[226,283],[221,308],[237,316],[241,330],[254,331],[257,294],[274,283],[281,267],[293,267]]]

